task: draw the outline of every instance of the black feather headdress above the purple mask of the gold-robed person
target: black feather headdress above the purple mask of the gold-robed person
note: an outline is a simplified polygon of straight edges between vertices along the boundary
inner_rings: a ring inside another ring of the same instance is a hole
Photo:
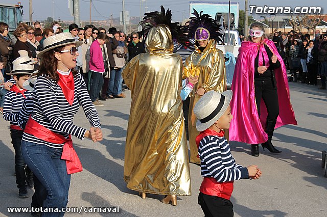
[[[189,25],[189,35],[190,37],[195,37],[197,30],[205,29],[209,34],[210,39],[215,39],[216,42],[224,43],[225,37],[225,29],[222,25],[217,24],[216,20],[211,18],[208,14],[200,14],[193,9],[194,12],[192,13],[194,16],[190,17],[190,25]]]

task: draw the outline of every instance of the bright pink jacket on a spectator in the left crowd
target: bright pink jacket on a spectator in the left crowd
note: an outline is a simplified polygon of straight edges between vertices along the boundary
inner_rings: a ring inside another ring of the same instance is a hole
[[[89,70],[100,73],[104,72],[102,49],[98,40],[94,40],[90,46]]]

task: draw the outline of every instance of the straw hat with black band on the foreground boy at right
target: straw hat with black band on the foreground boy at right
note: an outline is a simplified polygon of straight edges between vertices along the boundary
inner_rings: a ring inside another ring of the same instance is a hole
[[[196,122],[198,131],[211,127],[226,112],[232,94],[231,90],[224,91],[222,94],[209,91],[200,98],[193,110],[198,118]]]

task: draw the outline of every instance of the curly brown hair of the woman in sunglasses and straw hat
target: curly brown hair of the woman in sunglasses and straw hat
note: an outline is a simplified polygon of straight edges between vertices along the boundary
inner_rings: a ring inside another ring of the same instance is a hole
[[[58,83],[59,75],[57,72],[58,67],[58,59],[55,57],[55,52],[60,52],[65,47],[60,46],[54,49],[48,50],[43,53],[41,63],[38,69],[37,76],[45,75],[48,78],[53,79],[56,83]],[[78,74],[78,71],[72,69],[73,76],[75,77]]]

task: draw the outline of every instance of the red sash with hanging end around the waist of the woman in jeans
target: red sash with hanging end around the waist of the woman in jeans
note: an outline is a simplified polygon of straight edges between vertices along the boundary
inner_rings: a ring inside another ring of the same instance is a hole
[[[62,150],[61,159],[66,160],[67,174],[78,173],[83,170],[81,161],[73,147],[71,135],[69,135],[68,139],[65,139],[62,135],[55,133],[37,123],[31,117],[27,121],[24,132],[34,135],[34,137],[46,142],[55,144],[65,143]]]

